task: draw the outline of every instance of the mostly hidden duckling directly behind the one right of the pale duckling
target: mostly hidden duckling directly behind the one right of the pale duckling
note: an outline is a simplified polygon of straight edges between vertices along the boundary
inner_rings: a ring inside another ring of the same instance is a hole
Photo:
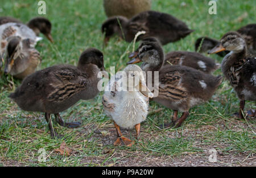
[[[141,48],[145,43],[148,42],[156,42],[159,43],[158,39],[150,36],[144,38],[139,47],[135,50],[135,52],[130,53],[129,58],[133,58],[138,55],[139,48]],[[160,45],[160,43],[159,43]],[[168,52],[165,55],[164,65],[184,65],[187,67],[191,67],[197,69],[199,71],[205,73],[212,73],[216,71],[220,67],[220,64],[216,64],[213,59],[210,57],[206,57],[201,55],[198,52],[188,52],[188,51],[172,51]]]

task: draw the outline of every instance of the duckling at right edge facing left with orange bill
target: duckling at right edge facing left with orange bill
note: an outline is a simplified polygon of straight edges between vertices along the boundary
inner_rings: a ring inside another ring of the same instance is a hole
[[[221,63],[221,70],[240,99],[239,118],[243,118],[245,100],[256,101],[256,58],[248,57],[245,39],[238,32],[228,32],[208,53],[230,51]],[[256,112],[254,113],[256,117]]]

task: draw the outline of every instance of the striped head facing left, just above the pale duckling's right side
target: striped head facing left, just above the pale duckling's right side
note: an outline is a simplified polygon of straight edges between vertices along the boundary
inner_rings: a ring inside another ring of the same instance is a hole
[[[138,55],[127,64],[143,62],[143,71],[159,71],[164,62],[164,52],[158,42],[146,42],[138,48]],[[150,70],[151,69],[151,70]]]

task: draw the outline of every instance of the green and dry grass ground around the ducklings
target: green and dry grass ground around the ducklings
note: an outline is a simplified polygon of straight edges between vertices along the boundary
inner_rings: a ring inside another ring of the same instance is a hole
[[[193,43],[200,36],[220,39],[225,32],[234,31],[248,23],[255,23],[255,1],[217,1],[217,15],[208,14],[208,1],[154,0],[152,10],[169,13],[182,19],[191,29],[191,35],[164,46],[164,51],[194,51]],[[5,1],[0,16],[14,16],[27,22],[37,14],[36,1]],[[55,64],[76,65],[80,53],[88,47],[104,52],[105,68],[115,70],[126,66],[132,44],[112,38],[103,48],[101,23],[106,16],[102,1],[46,1],[46,18],[52,22],[51,44],[44,38],[36,49],[42,55],[43,69]],[[138,46],[138,43],[136,44]],[[205,54],[206,55],[206,54]],[[221,57],[210,56],[221,63]],[[221,74],[218,69],[214,74]],[[65,121],[80,121],[82,126],[67,129],[55,124],[62,139],[51,139],[42,113],[22,111],[8,98],[20,84],[19,80],[1,74],[0,78],[0,166],[112,166],[112,165],[254,165],[255,119],[232,117],[239,109],[239,101],[228,81],[222,82],[212,100],[190,110],[188,119],[179,129],[159,129],[170,121],[172,111],[164,108],[148,115],[142,123],[141,140],[131,148],[114,147],[115,130],[112,121],[103,112],[102,93],[89,101],[79,101],[61,113]],[[153,110],[163,108],[154,102]],[[246,102],[246,110],[255,108]],[[123,130],[133,138],[135,131]],[[72,148],[70,156],[54,150],[62,142]],[[40,148],[46,150],[46,163],[38,162]],[[208,161],[209,149],[218,151],[217,163]]]

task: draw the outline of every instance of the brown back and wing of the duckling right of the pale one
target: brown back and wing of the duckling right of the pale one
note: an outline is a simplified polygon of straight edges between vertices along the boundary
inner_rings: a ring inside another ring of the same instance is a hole
[[[170,84],[180,95],[184,92],[189,97],[201,98],[204,101],[210,99],[221,81],[221,76],[212,76],[181,65],[166,66],[159,72],[160,84]]]

